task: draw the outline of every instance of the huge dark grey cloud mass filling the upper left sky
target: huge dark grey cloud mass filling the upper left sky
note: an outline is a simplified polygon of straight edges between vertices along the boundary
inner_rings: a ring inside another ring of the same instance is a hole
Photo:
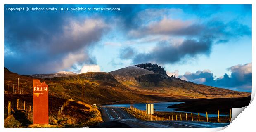
[[[5,5],[8,6],[22,7]],[[96,64],[90,50],[108,30],[104,18],[98,16],[5,11],[5,66],[20,74],[35,74],[69,70],[78,64]]]

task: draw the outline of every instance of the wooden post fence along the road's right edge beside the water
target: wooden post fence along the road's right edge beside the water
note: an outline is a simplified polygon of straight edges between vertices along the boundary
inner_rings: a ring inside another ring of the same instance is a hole
[[[177,121],[177,120],[180,120],[180,121],[195,121],[194,119],[197,118],[197,121],[200,121],[200,113],[197,114],[197,117],[194,117],[193,118],[193,113],[191,113],[191,116],[188,117],[188,113],[185,113],[184,114],[179,114],[177,116],[177,114],[175,115],[168,115],[168,116],[160,116],[160,117],[157,117],[155,115],[152,115],[152,114],[147,114],[145,111],[142,111],[142,110],[139,110],[133,106],[130,106],[130,110],[133,111],[135,114],[138,114],[140,116],[143,116],[144,118],[146,118],[146,120],[150,120],[150,121]],[[183,119],[182,117],[185,116],[185,119]],[[175,119],[173,119],[173,117]],[[177,118],[178,117],[178,118]],[[189,119],[190,118],[190,119]],[[230,113],[229,113],[229,122],[231,121],[231,109],[230,109]],[[208,112],[206,112],[206,122],[209,122],[209,119],[208,119]],[[218,110],[218,119],[217,119],[217,122],[219,123],[220,122],[220,115],[219,115],[219,110]]]

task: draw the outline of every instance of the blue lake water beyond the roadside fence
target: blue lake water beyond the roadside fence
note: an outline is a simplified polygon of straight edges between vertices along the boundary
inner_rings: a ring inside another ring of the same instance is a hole
[[[190,113],[190,112],[185,112],[185,111],[175,111],[175,108],[167,108],[168,106],[174,105],[174,104],[180,104],[183,102],[159,102],[159,103],[153,103],[154,104],[154,111],[158,111],[158,112],[184,112],[184,113]],[[126,107],[126,108],[130,108],[130,106],[133,106],[139,110],[146,110],[146,103],[138,103],[138,104],[111,104],[111,105],[105,105],[107,107]],[[198,113],[194,113],[194,114],[198,114]],[[200,113],[201,116],[205,116],[206,117],[206,113]],[[208,113],[208,117],[217,117],[217,111],[216,114],[211,114]],[[220,116],[229,116],[229,115],[222,115],[220,114]]]

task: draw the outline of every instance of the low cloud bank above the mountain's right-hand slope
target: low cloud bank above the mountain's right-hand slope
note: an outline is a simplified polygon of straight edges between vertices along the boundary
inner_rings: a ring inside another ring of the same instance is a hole
[[[196,73],[186,72],[179,78],[195,83],[230,88],[232,90],[251,91],[252,71],[251,63],[244,65],[236,65],[228,68],[231,75],[224,74],[220,78],[213,76],[210,70],[197,71]]]

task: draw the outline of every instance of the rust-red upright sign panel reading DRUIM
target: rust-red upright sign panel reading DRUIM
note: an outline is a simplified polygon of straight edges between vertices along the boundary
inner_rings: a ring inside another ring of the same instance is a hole
[[[33,79],[33,124],[49,124],[48,85]]]

